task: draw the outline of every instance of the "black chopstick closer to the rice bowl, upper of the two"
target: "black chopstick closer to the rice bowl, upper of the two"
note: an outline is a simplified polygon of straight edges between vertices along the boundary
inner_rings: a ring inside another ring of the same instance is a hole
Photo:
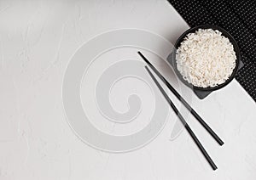
[[[148,66],[149,66],[152,70],[154,70],[154,73],[155,73],[157,76],[160,77],[160,80],[166,84],[166,86],[170,89],[170,91],[172,91],[172,93],[173,93],[173,94],[181,101],[181,103],[191,112],[191,114],[195,116],[195,119],[201,123],[201,126],[202,126],[202,127],[205,127],[205,129],[207,130],[207,132],[209,132],[209,133],[212,135],[212,138],[214,138],[214,139],[218,142],[219,145],[223,145],[224,142],[218,137],[218,135],[217,135],[215,132],[212,131],[211,127],[209,127],[209,126],[207,125],[207,123],[206,123],[205,121],[203,121],[203,119],[201,118],[201,116],[198,115],[198,114],[195,112],[195,110],[186,102],[186,100],[185,100],[179,93],[177,93],[177,91],[175,90],[175,88],[172,87],[172,85],[171,85],[169,82],[167,82],[166,78],[165,78],[164,76],[162,76],[162,75],[160,74],[160,72],[154,68],[154,66],[148,61],[148,59],[146,59],[146,57],[143,55],[143,53],[141,53],[141,52],[137,52],[137,53],[143,58],[143,60],[148,64]]]

